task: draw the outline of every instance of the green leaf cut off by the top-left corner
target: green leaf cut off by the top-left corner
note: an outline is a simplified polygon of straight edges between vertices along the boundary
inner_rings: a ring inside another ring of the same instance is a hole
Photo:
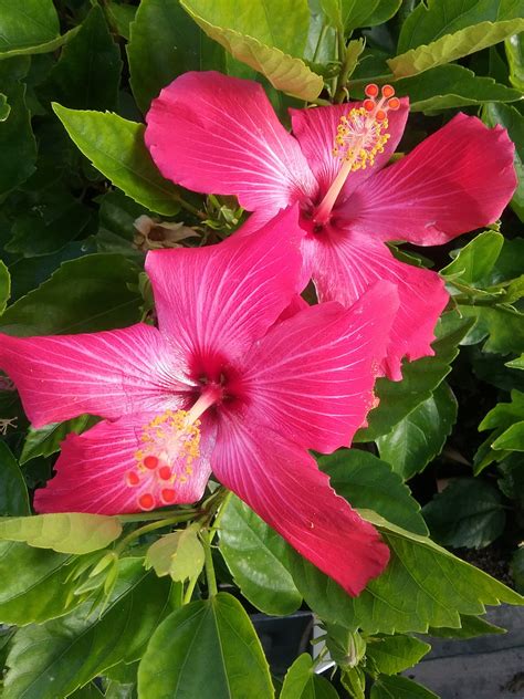
[[[59,34],[52,0],[0,0],[0,54],[52,41]]]

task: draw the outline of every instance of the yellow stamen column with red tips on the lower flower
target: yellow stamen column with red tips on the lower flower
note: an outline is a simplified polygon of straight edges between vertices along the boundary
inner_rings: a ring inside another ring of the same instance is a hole
[[[128,488],[136,489],[140,510],[174,504],[180,486],[192,474],[200,457],[200,416],[220,398],[209,387],[190,410],[166,410],[140,430],[136,465],[125,474]]]

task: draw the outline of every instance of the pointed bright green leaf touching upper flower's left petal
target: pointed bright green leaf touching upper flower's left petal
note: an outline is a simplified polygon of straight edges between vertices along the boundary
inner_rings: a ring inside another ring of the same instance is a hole
[[[53,109],[82,153],[116,187],[151,211],[178,212],[178,190],[153,163],[144,144],[144,124],[60,104],[53,104]]]

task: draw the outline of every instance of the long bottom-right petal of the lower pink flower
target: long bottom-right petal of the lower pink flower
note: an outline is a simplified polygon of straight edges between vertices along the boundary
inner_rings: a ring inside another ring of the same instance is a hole
[[[272,430],[224,418],[211,463],[227,488],[349,595],[386,567],[389,551],[376,530],[305,450]]]

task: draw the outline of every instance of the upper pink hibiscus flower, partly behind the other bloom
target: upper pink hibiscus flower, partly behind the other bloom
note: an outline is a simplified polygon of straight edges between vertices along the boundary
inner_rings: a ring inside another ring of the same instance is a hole
[[[432,354],[448,294],[438,274],[399,262],[385,242],[441,244],[499,218],[516,186],[513,144],[505,129],[459,114],[385,167],[408,101],[390,86],[367,94],[364,103],[291,109],[291,135],[258,83],[186,73],[153,102],[146,144],[165,177],[235,195],[255,212],[251,231],[297,201],[304,274],[321,302],[349,306],[376,280],[395,282],[400,310],[384,366],[399,378],[402,356]]]

